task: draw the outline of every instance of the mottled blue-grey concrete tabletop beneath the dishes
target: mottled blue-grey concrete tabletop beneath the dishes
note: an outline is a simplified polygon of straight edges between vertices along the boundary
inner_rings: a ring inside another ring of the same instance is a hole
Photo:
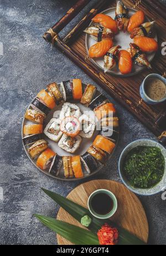
[[[27,158],[21,140],[24,111],[40,89],[52,81],[74,77],[93,83],[42,38],[43,32],[74,2],[0,0],[0,42],[4,47],[4,55],[0,56],[0,244],[55,244],[55,234],[33,217],[34,213],[55,217],[59,209],[40,187],[66,196],[80,184],[50,179],[40,173]],[[86,8],[80,15],[85,12]],[[63,35],[78,20],[76,17]],[[115,105],[121,119],[120,143],[113,158],[94,179],[121,182],[117,165],[123,148],[133,140],[155,137],[117,102]],[[147,213],[149,243],[165,244],[165,201],[161,194],[139,198]]]

